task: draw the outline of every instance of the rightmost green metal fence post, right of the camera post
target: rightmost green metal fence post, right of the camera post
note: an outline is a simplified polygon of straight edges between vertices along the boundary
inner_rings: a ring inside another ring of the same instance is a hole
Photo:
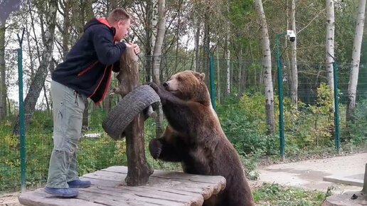
[[[336,151],[340,153],[340,136],[339,136],[339,101],[338,101],[338,65],[336,60],[333,62],[334,70],[334,129],[335,129],[335,147]]]

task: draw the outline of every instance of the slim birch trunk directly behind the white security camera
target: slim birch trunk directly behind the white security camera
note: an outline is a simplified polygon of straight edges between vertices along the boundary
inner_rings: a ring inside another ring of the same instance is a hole
[[[292,30],[294,33],[297,33],[296,31],[296,3],[295,0],[292,0],[292,11],[291,11],[291,24],[292,24]],[[297,99],[298,99],[298,69],[297,69],[297,38],[294,40],[294,42],[291,42],[291,61],[290,61],[290,67],[291,67],[291,100],[292,103],[297,107]]]

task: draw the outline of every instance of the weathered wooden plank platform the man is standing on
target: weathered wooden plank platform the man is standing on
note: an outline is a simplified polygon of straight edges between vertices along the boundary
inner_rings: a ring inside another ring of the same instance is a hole
[[[127,167],[112,166],[83,175],[90,180],[90,188],[78,189],[77,198],[48,195],[43,188],[22,193],[23,205],[203,205],[203,201],[225,188],[222,176],[191,175],[155,170],[149,184],[139,187],[124,185]]]

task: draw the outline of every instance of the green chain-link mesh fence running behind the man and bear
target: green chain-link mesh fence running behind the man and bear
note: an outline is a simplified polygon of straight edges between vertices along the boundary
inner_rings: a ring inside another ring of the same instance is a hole
[[[18,116],[18,86],[16,53],[9,51],[6,65],[6,85],[8,99],[6,117],[0,127],[0,191],[18,190],[20,187],[20,141],[14,135],[14,124]],[[195,60],[193,57],[162,57],[159,59],[160,80],[164,81],[181,70],[196,70],[206,74],[209,82],[210,65],[208,58]],[[216,112],[220,118],[225,134],[242,156],[258,154],[260,156],[279,156],[278,115],[279,103],[277,83],[274,83],[274,134],[267,133],[265,113],[265,90],[263,84],[262,63],[248,60],[213,59],[214,91]],[[139,57],[140,78],[142,83],[151,80],[151,57]],[[327,75],[324,63],[298,63],[298,102],[292,103],[289,66],[284,64],[284,134],[285,156],[298,156],[300,153],[323,151],[335,153],[334,144],[334,107],[333,92],[327,86]],[[29,90],[34,71],[25,63],[24,95]],[[351,121],[346,121],[349,103],[349,71],[351,65],[339,64],[339,120],[341,148],[350,150],[366,143],[367,139],[367,67],[361,65],[356,94],[356,107]],[[277,82],[276,64],[273,63],[273,82]],[[48,161],[53,148],[52,102],[49,95],[49,77],[26,126],[26,185],[41,187],[46,183]],[[111,87],[118,81],[113,77]],[[78,151],[78,168],[80,175],[114,165],[126,165],[125,142],[114,141],[102,130],[102,120],[121,99],[118,95],[108,96],[102,104],[95,107],[87,102],[83,123],[83,138]],[[147,141],[155,136],[155,121],[145,121],[145,138]],[[147,145],[147,143],[146,143]],[[147,151],[147,150],[146,150]],[[178,164],[154,161],[149,153],[147,160],[154,168],[180,169]]]

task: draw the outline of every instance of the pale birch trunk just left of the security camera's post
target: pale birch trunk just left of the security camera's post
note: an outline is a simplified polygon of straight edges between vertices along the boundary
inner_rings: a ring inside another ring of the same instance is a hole
[[[255,8],[261,21],[262,67],[264,69],[263,80],[265,85],[267,134],[275,134],[274,93],[272,87],[272,57],[270,51],[269,33],[267,31],[267,21],[264,9],[262,7],[262,0],[255,0]]]

